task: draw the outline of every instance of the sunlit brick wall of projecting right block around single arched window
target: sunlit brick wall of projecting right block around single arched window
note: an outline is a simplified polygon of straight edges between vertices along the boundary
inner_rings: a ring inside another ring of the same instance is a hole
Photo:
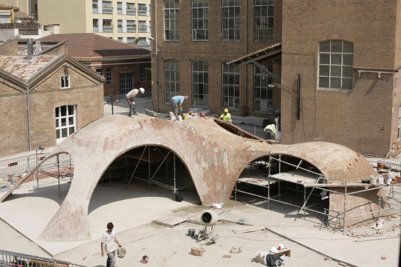
[[[296,143],[298,137],[298,142],[334,142],[358,152],[386,155],[395,136],[394,75],[358,77],[353,72],[352,92],[318,90],[318,42],[354,42],[356,68],[398,68],[397,3],[317,0],[312,6],[286,0],[284,5],[282,82],[296,89],[297,74],[302,73],[302,110],[301,120],[296,120],[296,93],[282,90],[282,143]],[[381,126],[385,132],[379,131]]]

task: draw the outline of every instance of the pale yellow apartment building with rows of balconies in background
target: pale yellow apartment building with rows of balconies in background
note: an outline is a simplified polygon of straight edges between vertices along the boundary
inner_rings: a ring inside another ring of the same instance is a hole
[[[41,24],[60,24],[60,34],[96,33],[129,44],[149,42],[150,0],[41,0],[38,12]]]

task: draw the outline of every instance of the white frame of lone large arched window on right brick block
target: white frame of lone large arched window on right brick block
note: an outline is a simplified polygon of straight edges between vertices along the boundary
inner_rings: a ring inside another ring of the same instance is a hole
[[[324,42],[328,42],[328,41],[330,41],[330,43],[329,43],[330,51],[329,52],[321,51],[322,50],[321,44],[324,43]],[[333,41],[341,41],[341,52],[338,52],[338,51],[333,52],[332,51],[332,42]],[[352,52],[343,52],[344,51],[344,42],[348,42],[348,43],[352,44]],[[352,43],[352,42],[349,42],[349,41],[346,41],[346,40],[340,40],[340,39],[324,40],[324,41],[319,42],[319,48],[318,48],[319,49],[318,88],[320,90],[338,90],[338,91],[348,91],[348,92],[352,91],[352,79],[353,79],[353,77],[352,77],[353,76],[352,66],[353,66],[353,60],[354,60],[353,45],[354,45],[354,43]],[[350,60],[349,59],[350,57],[348,55],[352,56],[352,59],[351,59],[352,64],[345,64],[344,63],[345,56],[348,57],[348,61]],[[322,62],[323,61],[322,60],[323,56],[328,56],[328,60],[329,60],[328,64],[326,64],[325,62]],[[332,62],[334,56],[337,56],[337,57],[340,56],[340,58],[341,58],[340,59],[340,61],[341,61],[340,64],[334,64]],[[324,68],[326,68],[326,70],[328,68],[328,76],[327,75],[322,75],[322,72],[324,71]],[[333,74],[334,68],[336,68],[337,70],[338,69],[340,70],[340,76]],[[344,70],[348,74],[348,76],[344,76]],[[328,87],[321,86],[322,85],[321,84],[321,79],[323,79],[323,78],[324,79],[328,78]],[[340,88],[332,87],[333,86],[332,85],[332,81],[334,82],[334,79],[336,79],[337,81],[338,81],[338,79],[340,79],[340,86],[339,86]],[[350,88],[343,88],[343,84],[344,84],[345,81],[351,82]]]

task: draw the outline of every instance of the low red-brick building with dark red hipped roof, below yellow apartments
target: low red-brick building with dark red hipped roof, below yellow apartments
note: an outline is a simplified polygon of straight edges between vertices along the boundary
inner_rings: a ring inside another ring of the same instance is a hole
[[[105,100],[110,100],[112,90],[118,91],[119,99],[125,99],[130,90],[140,87],[145,88],[145,94],[140,96],[150,96],[152,72],[149,50],[93,33],[51,34],[36,39],[35,47],[46,49],[66,40],[71,57],[105,77]]]

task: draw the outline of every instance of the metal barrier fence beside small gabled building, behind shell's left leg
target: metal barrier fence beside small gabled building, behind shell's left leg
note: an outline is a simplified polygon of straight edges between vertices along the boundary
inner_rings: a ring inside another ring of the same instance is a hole
[[[30,154],[20,157],[14,157],[11,159],[5,159],[0,161],[0,178],[4,178],[8,173],[27,173],[32,170],[38,163],[45,159],[47,155],[42,154]],[[71,165],[71,155],[61,154],[59,155],[60,166]],[[57,157],[52,157],[45,164],[39,167],[40,170],[53,169],[57,167]]]

